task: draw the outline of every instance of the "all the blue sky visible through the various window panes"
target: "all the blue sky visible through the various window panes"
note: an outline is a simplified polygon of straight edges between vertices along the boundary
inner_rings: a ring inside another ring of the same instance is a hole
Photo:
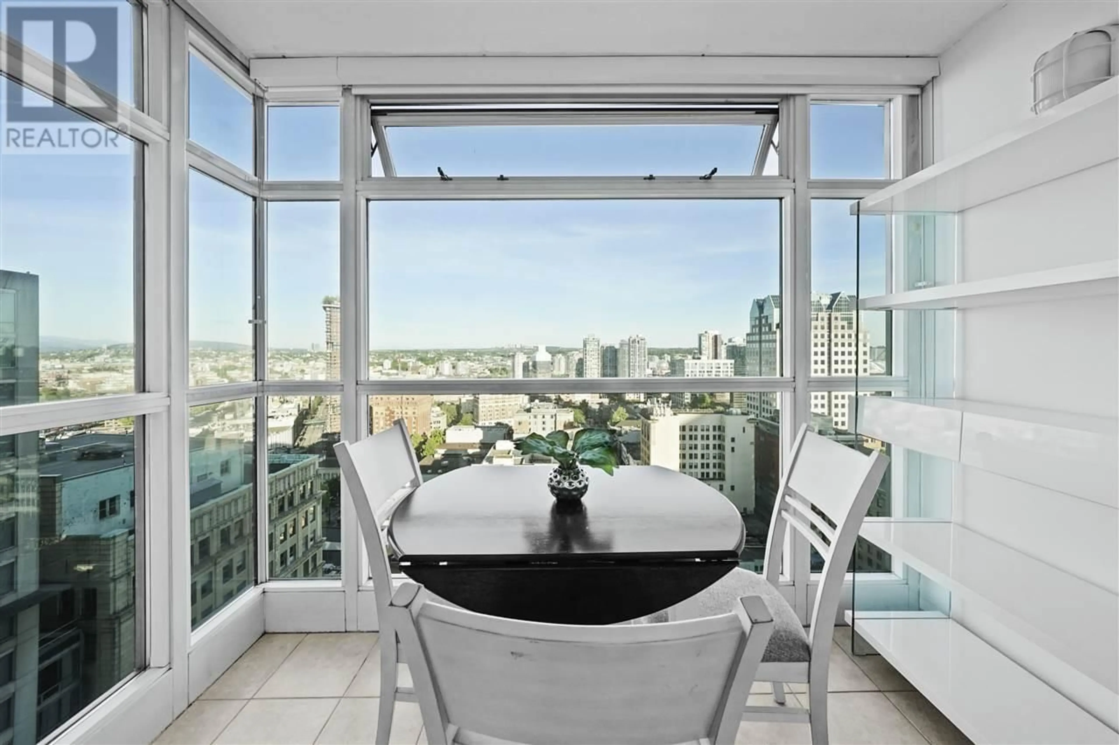
[[[191,83],[192,136],[248,167],[247,98],[197,60]],[[337,116],[274,111],[270,175],[336,178]],[[883,176],[882,109],[814,106],[812,124],[814,177]],[[742,126],[472,130],[391,133],[397,167],[735,173],[758,141]],[[132,172],[129,155],[0,155],[0,266],[40,276],[41,334],[132,340]],[[848,205],[814,206],[814,291],[855,290]],[[194,175],[190,207],[190,336],[247,343],[251,201]],[[321,300],[338,294],[338,206],[273,204],[269,216],[270,346],[321,345]],[[587,333],[692,346],[704,329],[745,333],[751,300],[780,290],[775,200],[373,202],[369,220],[375,348],[574,347]],[[864,223],[864,251],[882,256],[883,236],[884,223]],[[881,291],[881,266],[863,282],[864,294]]]

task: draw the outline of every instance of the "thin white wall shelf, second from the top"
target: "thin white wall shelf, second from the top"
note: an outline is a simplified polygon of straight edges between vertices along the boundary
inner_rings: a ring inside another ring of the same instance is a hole
[[[875,295],[863,298],[858,307],[861,310],[950,310],[1113,294],[1119,294],[1119,261]]]

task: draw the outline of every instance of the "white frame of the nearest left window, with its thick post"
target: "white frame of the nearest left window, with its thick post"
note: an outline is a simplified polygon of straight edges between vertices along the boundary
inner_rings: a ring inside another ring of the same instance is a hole
[[[65,102],[70,106],[92,107],[82,111],[91,121],[109,130],[129,136],[140,147],[135,150],[139,182],[134,191],[133,219],[134,267],[133,314],[135,319],[135,388],[131,394],[101,396],[77,400],[34,403],[8,406],[0,411],[0,435],[20,434],[49,430],[73,424],[104,419],[134,417],[133,436],[137,458],[134,465],[135,500],[135,660],[138,671],[125,676],[95,701],[86,706],[74,719],[57,730],[49,739],[65,738],[84,719],[94,716],[100,705],[114,694],[125,689],[140,690],[153,682],[159,673],[152,670],[166,669],[170,661],[168,644],[170,613],[167,596],[168,576],[163,568],[170,566],[170,551],[166,540],[151,540],[149,536],[164,532],[168,515],[167,501],[150,499],[153,493],[166,492],[167,459],[152,456],[166,444],[170,396],[166,386],[168,308],[157,292],[148,287],[160,286],[166,281],[167,242],[167,153],[170,132],[161,119],[159,100],[160,83],[151,79],[159,74],[158,65],[147,64],[154,58],[149,44],[144,44],[144,30],[153,21],[158,25],[162,13],[160,8],[149,8],[147,3],[132,3],[138,9],[132,28],[134,39],[140,44],[134,48],[137,105],[110,95],[92,85],[64,66],[57,66],[32,50],[20,49],[23,65],[17,74],[11,66],[13,53],[19,47],[13,39],[0,34],[0,74],[48,100],[54,95],[56,82],[62,83]],[[154,18],[153,18],[154,17]],[[160,35],[156,34],[156,40]],[[154,93],[153,93],[154,91]],[[62,103],[62,102],[58,102]],[[144,670],[147,668],[147,670]]]

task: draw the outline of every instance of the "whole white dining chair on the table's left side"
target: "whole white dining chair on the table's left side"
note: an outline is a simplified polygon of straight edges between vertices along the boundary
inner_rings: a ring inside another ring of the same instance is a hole
[[[415,692],[398,685],[399,636],[393,629],[388,603],[393,596],[392,570],[385,550],[384,525],[401,500],[419,487],[420,463],[404,419],[357,443],[335,445],[342,480],[349,491],[357,522],[365,539],[373,575],[380,633],[380,701],[377,718],[377,745],[387,745],[396,701],[414,701]]]

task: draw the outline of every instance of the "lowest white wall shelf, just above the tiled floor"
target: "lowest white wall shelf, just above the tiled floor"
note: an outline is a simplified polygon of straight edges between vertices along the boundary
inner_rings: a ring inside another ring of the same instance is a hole
[[[950,619],[853,620],[848,611],[847,621],[977,743],[1119,743],[1119,733]]]

